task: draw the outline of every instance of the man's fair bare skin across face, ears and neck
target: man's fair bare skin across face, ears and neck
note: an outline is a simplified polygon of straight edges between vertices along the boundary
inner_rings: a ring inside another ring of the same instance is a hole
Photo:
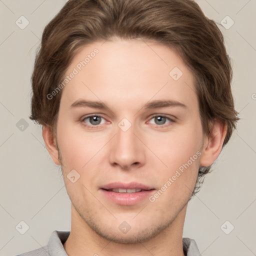
[[[203,134],[193,75],[175,51],[158,42],[115,37],[83,46],[66,74],[94,48],[99,53],[62,89],[56,137],[43,127],[45,145],[62,165],[71,200],[64,248],[78,256],[183,256],[187,202],[199,166],[212,164],[219,155],[226,125],[215,122],[210,135]],[[173,67],[183,73],[176,81],[169,75]],[[108,108],[70,107],[78,99]],[[153,100],[176,100],[186,107],[143,108]],[[90,114],[102,116],[100,123],[85,118]],[[154,118],[162,115],[173,121],[163,118],[162,124]],[[118,126],[123,118],[131,124],[125,132]],[[114,181],[137,181],[159,190],[197,151],[200,156],[154,202],[118,205],[100,190]],[[74,183],[67,178],[72,169],[80,174]],[[123,221],[131,226],[127,233],[118,228]]]

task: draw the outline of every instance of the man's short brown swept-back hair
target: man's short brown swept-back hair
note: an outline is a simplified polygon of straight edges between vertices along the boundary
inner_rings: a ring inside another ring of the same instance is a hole
[[[69,0],[43,30],[31,77],[30,119],[55,130],[61,91],[50,100],[75,52],[110,37],[144,38],[174,49],[192,71],[204,134],[210,122],[227,125],[223,146],[236,127],[232,69],[223,36],[193,0]],[[200,166],[195,194],[210,166]]]

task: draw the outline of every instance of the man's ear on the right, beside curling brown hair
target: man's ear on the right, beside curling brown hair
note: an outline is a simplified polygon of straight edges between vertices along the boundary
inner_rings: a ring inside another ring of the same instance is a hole
[[[211,125],[210,134],[205,135],[200,158],[200,166],[211,165],[218,157],[226,135],[226,123],[215,120]]]

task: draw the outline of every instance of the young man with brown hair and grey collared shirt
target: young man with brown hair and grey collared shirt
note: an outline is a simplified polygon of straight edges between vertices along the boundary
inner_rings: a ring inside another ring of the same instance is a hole
[[[191,0],[69,0],[43,31],[30,118],[71,230],[21,255],[200,255],[185,212],[238,120],[231,76]]]

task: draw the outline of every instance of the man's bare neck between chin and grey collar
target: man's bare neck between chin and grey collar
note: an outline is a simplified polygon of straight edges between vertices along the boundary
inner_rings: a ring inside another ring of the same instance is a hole
[[[125,244],[107,240],[92,230],[71,205],[71,230],[63,244],[69,256],[185,256],[182,248],[182,231],[186,206],[161,233],[150,240]]]

